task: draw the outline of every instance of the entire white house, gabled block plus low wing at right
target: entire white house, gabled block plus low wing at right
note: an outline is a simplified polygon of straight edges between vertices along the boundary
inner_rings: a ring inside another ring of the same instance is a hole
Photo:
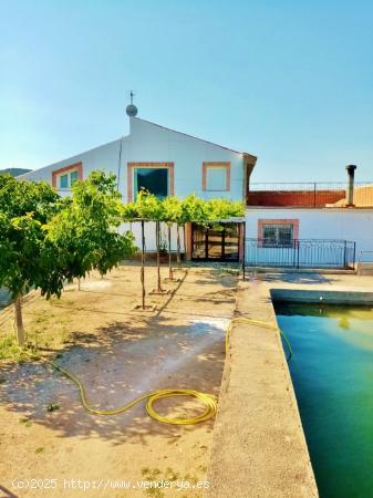
[[[135,106],[127,107],[127,136],[22,177],[48,180],[64,196],[74,179],[106,169],[115,173],[127,201],[142,187],[160,197],[196,194],[245,201],[245,237],[236,222],[225,224],[224,230],[186,227],[185,252],[193,259],[238,261],[245,246],[248,264],[343,267],[373,251],[373,188],[355,187],[353,201],[354,167],[349,169],[348,187],[258,187],[250,181],[256,156],[149,123],[136,112]],[[139,227],[134,224],[132,229],[139,245]],[[174,243],[175,239],[174,234]],[[152,224],[146,228],[146,248],[155,249]]]

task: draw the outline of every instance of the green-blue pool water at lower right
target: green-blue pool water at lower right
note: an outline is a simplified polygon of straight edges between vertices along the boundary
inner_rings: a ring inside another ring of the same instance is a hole
[[[274,308],[320,496],[373,497],[373,307]]]

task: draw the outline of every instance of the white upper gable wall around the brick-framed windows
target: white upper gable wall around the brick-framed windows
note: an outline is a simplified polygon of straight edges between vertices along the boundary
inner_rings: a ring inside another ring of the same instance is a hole
[[[23,175],[32,180],[52,184],[53,172],[82,163],[83,178],[94,169],[106,169],[118,177],[118,188],[123,200],[128,200],[128,163],[174,163],[174,194],[186,197],[196,194],[201,198],[224,197],[242,199],[244,155],[183,133],[164,128],[153,123],[129,118],[128,136],[60,160],[44,168]],[[205,191],[203,189],[204,162],[230,164],[230,190]],[[69,191],[61,191],[69,195]]]

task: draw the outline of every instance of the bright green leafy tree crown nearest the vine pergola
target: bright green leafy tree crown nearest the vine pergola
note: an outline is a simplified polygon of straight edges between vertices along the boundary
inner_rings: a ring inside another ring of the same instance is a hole
[[[133,234],[121,234],[121,222],[115,175],[96,170],[73,185],[72,197],[46,227],[60,271],[69,281],[94,269],[103,276],[134,253]]]

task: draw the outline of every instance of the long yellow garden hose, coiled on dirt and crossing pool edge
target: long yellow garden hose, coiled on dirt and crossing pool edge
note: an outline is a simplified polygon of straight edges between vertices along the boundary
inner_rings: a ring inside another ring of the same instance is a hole
[[[229,336],[230,336],[230,332],[231,332],[231,328],[232,328],[234,323],[250,323],[253,325],[263,326],[266,329],[279,330],[276,325],[268,323],[268,322],[263,322],[261,320],[252,320],[252,319],[248,319],[248,318],[244,318],[244,317],[235,318],[230,321],[227,332],[226,332],[226,354],[228,352]],[[284,334],[282,334],[282,336],[287,341],[287,344],[288,344],[289,351],[290,351],[290,357],[291,357],[292,351],[291,351],[290,343],[287,340],[287,338],[284,336]],[[290,357],[288,360],[290,360]],[[137,405],[137,403],[141,403],[143,400],[147,400],[145,407],[146,407],[146,412],[148,413],[148,415],[152,418],[154,418],[155,421],[162,422],[164,424],[173,424],[173,425],[199,424],[200,422],[205,422],[205,421],[208,421],[209,418],[213,418],[217,412],[217,397],[214,396],[213,394],[206,394],[206,393],[201,393],[201,392],[195,391],[195,390],[177,390],[177,388],[175,388],[175,390],[170,390],[170,388],[169,390],[158,390],[158,391],[154,391],[153,393],[143,394],[142,396],[133,400],[132,402],[129,402],[126,405],[124,405],[120,408],[116,408],[116,409],[96,409],[96,408],[93,408],[92,406],[90,406],[87,398],[86,398],[84,385],[73,373],[71,373],[70,371],[63,369],[62,366],[60,366],[56,363],[51,362],[49,360],[46,360],[46,363],[49,365],[51,365],[54,370],[61,372],[63,375],[69,377],[77,386],[80,396],[81,396],[81,401],[82,401],[82,405],[89,413],[92,413],[95,415],[105,415],[105,416],[117,415],[120,413],[127,412],[129,408]],[[166,397],[174,397],[174,396],[195,397],[205,405],[205,412],[200,415],[196,415],[190,418],[180,418],[180,417],[172,418],[172,417],[165,417],[163,415],[159,415],[158,412],[154,407],[154,403],[158,400],[164,400]]]

